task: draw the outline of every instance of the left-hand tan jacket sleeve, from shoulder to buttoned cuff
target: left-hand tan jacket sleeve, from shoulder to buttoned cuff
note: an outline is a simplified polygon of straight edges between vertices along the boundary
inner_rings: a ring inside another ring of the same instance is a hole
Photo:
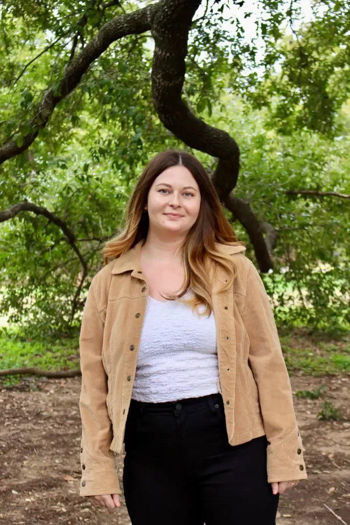
[[[92,279],[80,331],[80,496],[121,493],[114,455],[109,449],[113,432],[106,403],[108,377],[102,361],[103,328]]]

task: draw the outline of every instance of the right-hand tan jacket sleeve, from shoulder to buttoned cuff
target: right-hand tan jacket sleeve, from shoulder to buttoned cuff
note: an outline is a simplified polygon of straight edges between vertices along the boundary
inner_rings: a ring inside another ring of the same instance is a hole
[[[268,439],[268,482],[306,479],[291,383],[269,297],[251,261],[242,320],[250,340],[249,362],[259,391]]]

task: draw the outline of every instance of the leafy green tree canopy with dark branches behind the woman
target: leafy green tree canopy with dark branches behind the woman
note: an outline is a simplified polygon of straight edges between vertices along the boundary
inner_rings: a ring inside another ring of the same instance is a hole
[[[76,327],[137,177],[176,147],[205,165],[278,318],[350,322],[350,6],[310,9],[3,0],[0,313]]]

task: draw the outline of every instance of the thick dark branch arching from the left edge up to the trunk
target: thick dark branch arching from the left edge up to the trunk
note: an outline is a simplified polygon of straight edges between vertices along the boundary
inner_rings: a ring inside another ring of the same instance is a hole
[[[34,117],[28,122],[32,131],[23,137],[22,145],[18,146],[15,140],[9,140],[0,148],[0,165],[25,151],[34,142],[39,130],[45,128],[57,104],[77,87],[92,62],[115,40],[149,30],[157,9],[158,4],[151,4],[133,13],[120,15],[104,24],[89,44],[66,66],[63,78],[46,91]]]

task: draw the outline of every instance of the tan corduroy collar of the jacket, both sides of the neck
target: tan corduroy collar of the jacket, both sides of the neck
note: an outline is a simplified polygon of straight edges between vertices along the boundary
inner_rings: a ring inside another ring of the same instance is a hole
[[[115,259],[114,266],[112,268],[112,274],[123,274],[125,271],[132,271],[136,277],[141,277],[142,270],[140,267],[140,253],[141,247],[144,244],[145,239],[141,239],[133,248],[124,251],[118,259]],[[225,255],[233,255],[246,251],[246,247],[240,244],[216,244],[216,249],[221,251]]]

